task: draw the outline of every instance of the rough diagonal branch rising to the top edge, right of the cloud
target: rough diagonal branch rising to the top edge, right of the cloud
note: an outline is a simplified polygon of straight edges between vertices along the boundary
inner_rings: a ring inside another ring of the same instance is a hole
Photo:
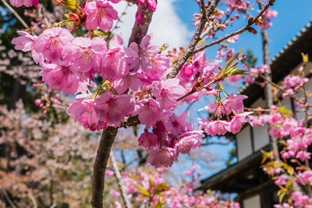
[[[186,48],[186,51],[184,51],[181,58],[179,58],[179,61],[174,66],[172,71],[167,74],[167,78],[175,78],[176,75],[178,75],[179,71],[183,67],[183,65],[186,63],[186,60],[190,58],[190,56],[193,53],[195,46],[199,43],[200,40],[202,40],[202,37],[200,35],[202,34],[202,31],[204,29],[204,26],[206,25],[208,21],[208,17],[210,17],[213,14],[213,10],[215,10],[215,7],[217,6],[217,3],[219,3],[220,0],[213,0],[213,2],[208,6],[206,11],[203,11],[202,19],[200,19],[199,26],[197,26],[194,36],[192,37],[192,40],[190,41],[190,44],[188,44],[188,47]]]

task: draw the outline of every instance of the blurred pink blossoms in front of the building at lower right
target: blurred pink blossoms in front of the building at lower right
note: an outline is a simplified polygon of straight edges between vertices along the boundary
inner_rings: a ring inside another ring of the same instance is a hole
[[[312,200],[303,195],[302,192],[292,191],[289,183],[294,180],[297,184],[301,184],[308,190],[311,189],[312,171],[306,162],[311,159],[311,153],[308,148],[312,144],[312,129],[304,127],[302,121],[297,121],[290,114],[280,112],[280,108],[272,105],[270,114],[261,114],[258,116],[249,116],[254,122],[254,126],[263,126],[267,123],[270,126],[269,134],[271,137],[280,139],[284,144],[281,150],[281,158],[284,162],[274,161],[264,165],[265,171],[270,175],[277,175],[274,183],[288,193],[292,202],[283,205],[274,205],[274,207],[311,207]],[[290,162],[290,164],[288,164]],[[290,166],[293,164],[292,166]],[[299,165],[298,165],[299,164]],[[295,166],[295,169],[293,168]],[[296,174],[293,174],[293,171]],[[287,176],[288,174],[288,176]]]

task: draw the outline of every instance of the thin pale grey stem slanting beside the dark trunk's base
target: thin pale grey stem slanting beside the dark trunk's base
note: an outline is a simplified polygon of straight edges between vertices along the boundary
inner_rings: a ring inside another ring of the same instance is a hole
[[[117,162],[116,162],[115,155],[114,155],[113,151],[110,151],[109,157],[110,157],[110,163],[113,166],[113,171],[114,171],[114,175],[115,175],[116,180],[117,180],[118,187],[120,189],[122,201],[124,202],[124,207],[131,208],[131,204],[130,204],[130,201],[128,198],[128,194],[126,194],[126,187],[124,187],[124,180],[122,179],[122,174],[120,174],[120,170],[117,166]]]

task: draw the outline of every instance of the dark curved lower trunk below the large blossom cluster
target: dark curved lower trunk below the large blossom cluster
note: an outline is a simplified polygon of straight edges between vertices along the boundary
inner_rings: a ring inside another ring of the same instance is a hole
[[[93,180],[92,180],[92,207],[103,207],[104,180],[107,161],[110,154],[110,149],[113,146],[114,139],[117,135],[117,128],[108,126],[103,131],[99,148],[97,149],[97,157],[93,165]]]

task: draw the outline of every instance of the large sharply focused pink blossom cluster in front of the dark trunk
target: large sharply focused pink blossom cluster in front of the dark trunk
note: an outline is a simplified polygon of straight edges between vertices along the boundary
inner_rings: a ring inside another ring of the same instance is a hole
[[[217,63],[206,62],[204,53],[194,55],[192,63],[176,79],[163,80],[165,71],[170,69],[170,59],[150,42],[152,35],[143,38],[140,46],[133,42],[129,48],[122,46],[122,35],[115,35],[108,48],[100,37],[74,38],[64,28],[47,29],[39,37],[20,33],[22,36],[13,40],[15,48],[33,51],[49,90],[81,93],[69,105],[67,114],[85,128],[119,127],[125,116],[138,115],[146,129],[139,142],[149,148],[148,162],[154,166],[171,166],[179,153],[199,148],[202,131],[193,131],[193,126],[184,121],[187,114],[178,118],[172,111],[177,107],[176,99],[196,83],[195,74],[204,80],[217,67]],[[92,82],[95,73],[105,82],[95,94],[90,94],[88,85],[96,87]],[[132,95],[124,94],[128,89]],[[153,126],[154,133],[148,133],[147,129]]]

